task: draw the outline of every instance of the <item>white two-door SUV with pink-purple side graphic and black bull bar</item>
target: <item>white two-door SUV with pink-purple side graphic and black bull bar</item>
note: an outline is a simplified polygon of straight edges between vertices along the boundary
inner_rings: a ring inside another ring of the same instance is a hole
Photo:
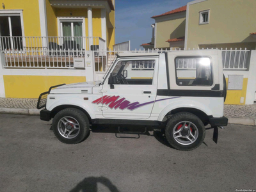
[[[217,142],[218,127],[228,123],[225,83],[218,50],[119,54],[102,81],[53,86],[38,108],[63,143],[83,141],[90,124],[138,124],[164,127],[172,147],[192,150],[205,125]]]

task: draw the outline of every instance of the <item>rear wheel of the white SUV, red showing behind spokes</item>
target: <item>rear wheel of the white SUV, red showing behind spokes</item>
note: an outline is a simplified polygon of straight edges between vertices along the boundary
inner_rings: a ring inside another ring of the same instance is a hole
[[[168,120],[165,136],[173,148],[186,151],[193,150],[204,141],[205,127],[198,116],[180,112]]]

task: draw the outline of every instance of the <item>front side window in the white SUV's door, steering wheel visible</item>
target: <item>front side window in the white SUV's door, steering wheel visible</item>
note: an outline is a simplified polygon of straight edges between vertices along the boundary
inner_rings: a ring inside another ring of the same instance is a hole
[[[112,72],[113,84],[152,84],[155,60],[119,61]]]

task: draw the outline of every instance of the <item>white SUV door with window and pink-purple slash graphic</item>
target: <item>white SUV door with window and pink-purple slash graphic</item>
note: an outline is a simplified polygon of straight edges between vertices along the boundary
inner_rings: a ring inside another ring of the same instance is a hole
[[[147,119],[150,117],[157,91],[158,59],[120,59],[102,84],[105,118]],[[113,78],[111,83],[109,78]]]

